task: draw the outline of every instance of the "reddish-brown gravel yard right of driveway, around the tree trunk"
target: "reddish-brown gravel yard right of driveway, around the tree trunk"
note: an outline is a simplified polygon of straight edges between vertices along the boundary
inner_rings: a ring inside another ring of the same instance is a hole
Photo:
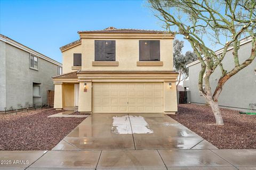
[[[221,108],[224,126],[216,126],[211,107],[181,104],[169,115],[219,149],[256,149],[256,115]]]

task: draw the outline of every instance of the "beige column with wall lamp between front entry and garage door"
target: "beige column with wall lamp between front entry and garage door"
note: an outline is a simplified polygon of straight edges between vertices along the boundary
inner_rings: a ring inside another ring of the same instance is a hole
[[[84,89],[86,83],[87,89]],[[78,112],[92,112],[92,82],[79,83]]]

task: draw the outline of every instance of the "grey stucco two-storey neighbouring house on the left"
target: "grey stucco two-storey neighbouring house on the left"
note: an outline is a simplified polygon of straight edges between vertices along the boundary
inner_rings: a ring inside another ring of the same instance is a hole
[[[0,111],[47,104],[61,70],[59,62],[0,35]]]

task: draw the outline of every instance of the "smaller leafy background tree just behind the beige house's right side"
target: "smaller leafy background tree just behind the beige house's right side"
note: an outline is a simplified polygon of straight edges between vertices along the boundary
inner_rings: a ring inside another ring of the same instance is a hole
[[[178,39],[174,40],[173,43],[173,64],[177,72],[179,72],[178,82],[176,84],[177,90],[181,81],[188,78],[188,67],[187,64],[197,60],[197,56],[194,52],[187,51],[182,54],[182,48],[184,41]]]

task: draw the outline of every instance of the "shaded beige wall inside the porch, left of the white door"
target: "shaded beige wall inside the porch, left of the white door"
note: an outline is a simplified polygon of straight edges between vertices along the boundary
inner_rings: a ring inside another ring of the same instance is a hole
[[[74,107],[75,106],[75,86],[73,83],[63,83],[62,84],[62,99],[63,107]]]

